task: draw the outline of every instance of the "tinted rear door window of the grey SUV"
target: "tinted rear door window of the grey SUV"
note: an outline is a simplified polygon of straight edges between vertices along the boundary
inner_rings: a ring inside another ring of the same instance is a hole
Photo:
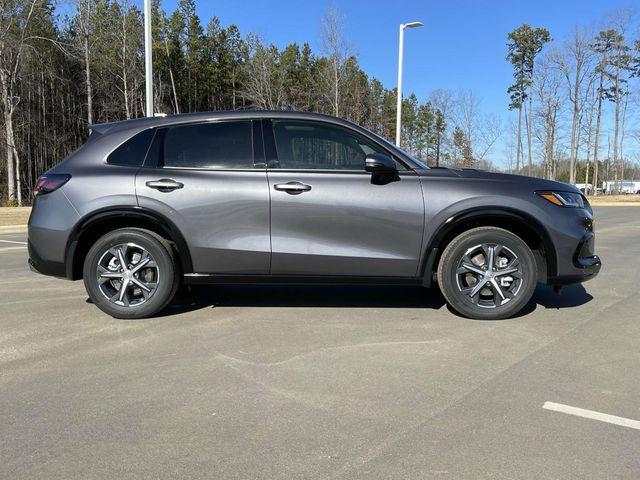
[[[251,122],[200,123],[167,129],[164,166],[253,168]]]

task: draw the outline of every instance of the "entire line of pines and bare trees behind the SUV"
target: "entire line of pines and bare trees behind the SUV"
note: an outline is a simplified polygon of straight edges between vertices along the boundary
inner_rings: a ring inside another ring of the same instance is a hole
[[[0,6],[0,202],[27,204],[38,177],[86,140],[89,125],[144,116],[142,13],[131,0],[76,0],[65,10],[49,0],[0,0]],[[308,43],[278,48],[216,17],[203,24],[195,0],[180,0],[170,13],[153,0],[154,110],[316,111],[392,140],[396,91],[360,67],[344,25],[329,8],[318,51]],[[616,33],[576,30],[576,39],[553,53],[544,29],[523,25],[509,34],[510,107],[519,118],[511,135],[517,140],[506,152],[510,171],[560,179],[568,171],[566,181],[575,181],[585,161],[591,178],[637,168],[622,147],[635,135],[627,123],[629,85],[640,46],[629,45],[621,26],[609,30]],[[609,103],[617,133],[607,163],[602,138]],[[472,90],[436,90],[423,101],[410,94],[402,108],[402,145],[418,159],[496,168],[490,158],[509,128],[483,112]]]

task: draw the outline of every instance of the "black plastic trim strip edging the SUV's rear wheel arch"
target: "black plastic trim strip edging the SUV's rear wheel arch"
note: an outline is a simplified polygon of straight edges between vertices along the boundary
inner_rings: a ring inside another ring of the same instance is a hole
[[[159,214],[153,210],[149,210],[143,207],[137,206],[118,206],[118,207],[106,207],[94,212],[91,212],[87,216],[80,219],[73,229],[69,239],[67,240],[67,246],[65,248],[65,264],[67,278],[76,280],[74,275],[74,261],[76,257],[76,250],[82,235],[87,232],[91,227],[105,220],[122,219],[144,219],[153,222],[157,225],[168,237],[169,240],[175,243],[178,255],[180,257],[180,266],[183,273],[193,273],[193,263],[191,261],[191,253],[189,247],[185,241],[184,236],[180,229],[167,217]]]

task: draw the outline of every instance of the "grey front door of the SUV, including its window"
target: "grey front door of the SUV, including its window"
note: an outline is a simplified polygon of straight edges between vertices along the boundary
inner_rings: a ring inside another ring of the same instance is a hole
[[[384,149],[343,126],[265,121],[271,193],[271,273],[417,275],[424,203],[420,180],[376,177],[365,156]],[[269,158],[273,157],[273,158]]]

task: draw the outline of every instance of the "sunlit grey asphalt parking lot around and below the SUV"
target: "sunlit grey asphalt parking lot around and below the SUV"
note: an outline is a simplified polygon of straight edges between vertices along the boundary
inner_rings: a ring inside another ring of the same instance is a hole
[[[640,208],[596,218],[600,276],[502,321],[331,286],[115,320],[0,235],[0,477],[639,478]]]

